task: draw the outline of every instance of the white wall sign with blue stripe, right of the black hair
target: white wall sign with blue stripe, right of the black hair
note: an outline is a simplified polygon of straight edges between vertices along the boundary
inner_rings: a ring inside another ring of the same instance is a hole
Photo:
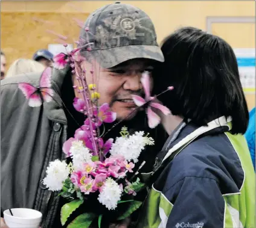
[[[245,93],[255,93],[255,49],[235,48],[240,80]]]

